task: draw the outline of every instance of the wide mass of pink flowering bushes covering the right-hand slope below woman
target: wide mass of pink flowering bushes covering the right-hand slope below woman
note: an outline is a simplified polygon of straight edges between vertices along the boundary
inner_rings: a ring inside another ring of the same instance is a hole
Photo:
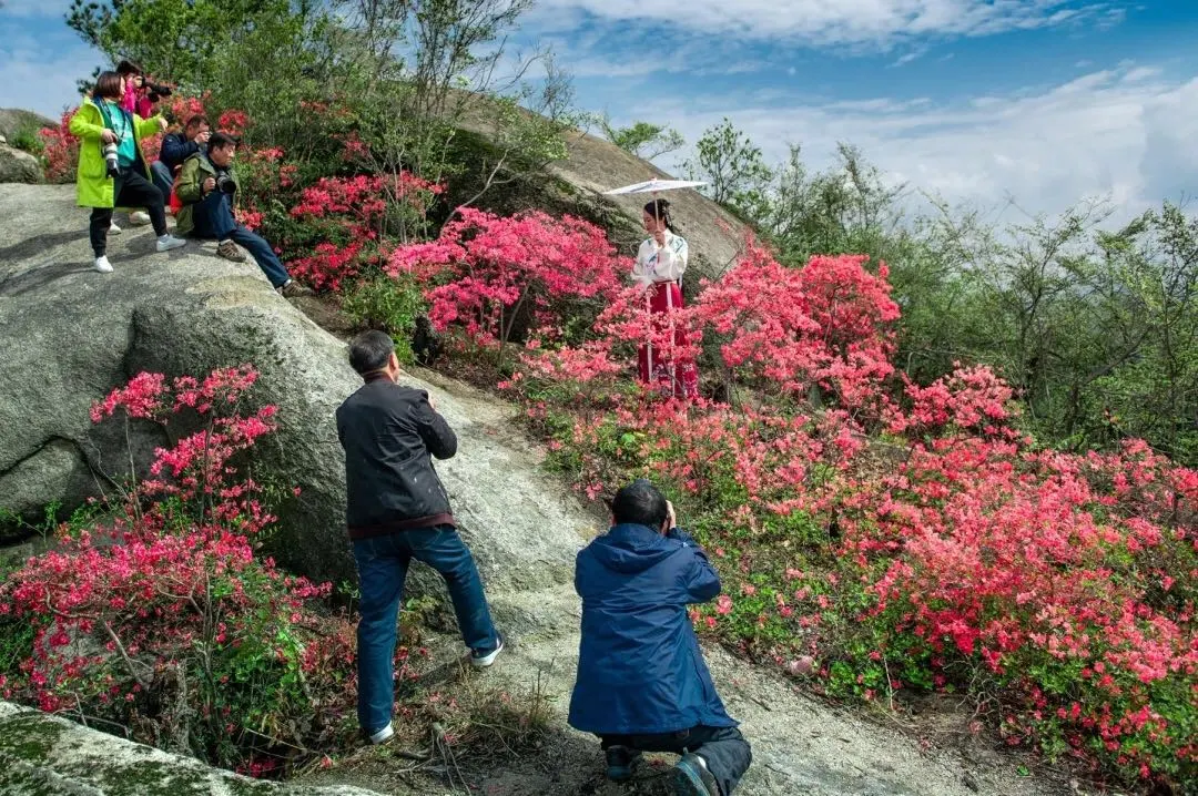
[[[437,273],[434,254],[394,257]],[[472,279],[502,260],[472,260]],[[1040,448],[986,367],[897,377],[898,310],[864,266],[786,269],[751,248],[668,320],[616,291],[570,339],[532,328],[501,385],[589,497],[636,475],[674,497],[724,576],[701,631],[831,695],[957,691],[1011,743],[1192,779],[1198,473],[1142,442]],[[670,322],[718,351],[709,389],[734,403],[630,382],[635,346],[670,345]]]

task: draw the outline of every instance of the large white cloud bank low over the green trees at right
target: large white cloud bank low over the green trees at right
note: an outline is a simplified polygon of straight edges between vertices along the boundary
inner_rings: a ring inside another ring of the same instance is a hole
[[[659,110],[689,141],[726,115],[767,158],[780,160],[795,142],[815,168],[847,141],[896,182],[982,207],[1009,194],[1028,211],[1055,213],[1108,196],[1126,218],[1198,184],[1198,75],[1170,80],[1143,67],[954,104],[727,97]]]

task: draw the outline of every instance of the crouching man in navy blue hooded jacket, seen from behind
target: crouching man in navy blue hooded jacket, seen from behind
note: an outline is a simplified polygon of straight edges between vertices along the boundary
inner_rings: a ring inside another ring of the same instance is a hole
[[[617,492],[611,511],[574,572],[582,642],[569,723],[599,736],[612,779],[628,779],[641,752],[673,752],[677,794],[728,796],[752,753],[686,615],[720,594],[720,576],[648,481]]]

